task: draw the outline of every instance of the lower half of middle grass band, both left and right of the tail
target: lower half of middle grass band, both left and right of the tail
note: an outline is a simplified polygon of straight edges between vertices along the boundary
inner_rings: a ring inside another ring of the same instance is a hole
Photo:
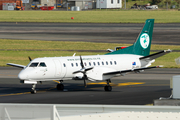
[[[29,63],[28,56],[33,59],[38,57],[61,57],[61,56],[72,56],[74,53],[79,55],[103,55],[105,53],[95,53],[95,52],[69,52],[69,51],[0,51],[0,66],[6,66],[6,63],[16,63],[27,65]],[[152,53],[151,53],[152,54]],[[154,65],[164,65],[164,68],[180,68],[180,65],[176,65],[175,59],[180,56],[180,52],[172,52],[160,58],[152,64]]]

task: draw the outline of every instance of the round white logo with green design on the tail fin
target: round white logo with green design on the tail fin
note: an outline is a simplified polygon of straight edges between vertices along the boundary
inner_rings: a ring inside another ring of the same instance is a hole
[[[140,44],[142,48],[146,49],[149,46],[149,35],[147,33],[143,33],[140,37]]]

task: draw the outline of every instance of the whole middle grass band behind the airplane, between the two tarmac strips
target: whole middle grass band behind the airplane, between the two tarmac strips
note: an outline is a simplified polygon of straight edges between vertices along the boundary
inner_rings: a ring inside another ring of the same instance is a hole
[[[76,50],[106,50],[107,48],[114,49],[115,46],[129,45],[130,44],[0,39],[0,48],[4,49],[0,50],[0,66],[6,66],[6,63],[27,65],[29,63],[28,56],[31,56],[34,59],[37,57],[72,56],[74,53],[77,53],[76,56],[103,55],[105,52],[77,52]],[[33,51],[26,51],[26,49],[32,49]],[[36,51],[37,49],[43,51]],[[54,51],[48,51],[48,49],[53,49]],[[151,50],[166,49],[180,50],[180,47],[175,45],[152,45],[151,47]],[[165,68],[180,68],[180,65],[176,65],[175,63],[175,59],[179,56],[180,52],[169,53],[156,59],[156,62],[153,63],[153,65],[164,65]]]

